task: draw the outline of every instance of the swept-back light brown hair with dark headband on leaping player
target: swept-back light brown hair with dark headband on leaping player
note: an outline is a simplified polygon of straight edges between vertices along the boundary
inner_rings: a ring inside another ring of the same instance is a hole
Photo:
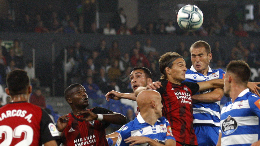
[[[175,52],[167,52],[164,55],[161,55],[161,57],[159,59],[159,68],[160,68],[160,72],[162,74],[161,79],[167,78],[165,68],[166,67],[171,68],[172,62],[178,58],[183,58],[183,57]]]

